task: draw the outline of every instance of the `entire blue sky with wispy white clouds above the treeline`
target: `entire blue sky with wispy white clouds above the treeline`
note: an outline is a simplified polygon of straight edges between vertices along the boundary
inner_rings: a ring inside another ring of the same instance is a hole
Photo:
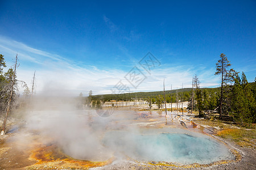
[[[38,93],[112,93],[122,80],[130,91],[217,87],[215,63],[225,53],[249,82],[256,73],[255,1],[0,1],[0,53],[18,78]],[[139,61],[151,52],[151,73]],[[146,79],[137,88],[125,75],[134,66]]]

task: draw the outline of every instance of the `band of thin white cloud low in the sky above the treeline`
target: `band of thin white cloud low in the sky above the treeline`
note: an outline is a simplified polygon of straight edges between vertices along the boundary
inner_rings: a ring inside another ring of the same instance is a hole
[[[218,78],[214,76],[214,70],[203,68],[188,68],[187,66],[162,65],[152,70],[149,75],[138,64],[137,66],[146,79],[137,88],[125,79],[127,71],[111,69],[98,69],[95,66],[76,65],[75,61],[32,48],[22,42],[17,42],[7,37],[0,38],[1,53],[5,56],[7,65],[11,65],[11,58],[18,53],[20,66],[18,68],[18,79],[27,82],[31,86],[32,76],[36,71],[36,92],[44,95],[78,95],[88,94],[111,94],[112,90],[120,80],[125,86],[134,91],[161,91],[163,90],[163,79],[165,79],[167,90],[172,87],[191,87],[192,76],[197,73],[201,80],[201,86],[213,87],[218,85]],[[192,71],[193,70],[193,71]],[[200,74],[201,73],[201,74]],[[22,90],[20,90],[22,91]]]

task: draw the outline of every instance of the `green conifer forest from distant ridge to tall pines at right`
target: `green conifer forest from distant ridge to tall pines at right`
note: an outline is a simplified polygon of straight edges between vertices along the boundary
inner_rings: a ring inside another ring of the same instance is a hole
[[[191,111],[198,111],[199,116],[205,113],[218,112],[219,118],[232,116],[233,120],[241,125],[251,125],[256,122],[256,78],[249,83],[245,73],[229,69],[231,63],[225,54],[220,55],[216,63],[216,73],[220,77],[221,86],[217,88],[200,88],[200,81],[197,75],[193,76],[192,88],[181,88],[179,90],[166,91],[167,103],[178,103],[189,101],[188,108]],[[157,104],[161,108],[164,103],[164,92],[134,92],[127,94],[92,95],[90,91],[87,105],[100,107],[100,104],[111,100],[145,100],[151,108]]]

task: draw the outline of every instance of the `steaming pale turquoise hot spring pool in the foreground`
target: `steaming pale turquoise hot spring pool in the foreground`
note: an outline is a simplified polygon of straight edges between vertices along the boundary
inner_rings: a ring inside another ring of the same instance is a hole
[[[178,164],[209,164],[234,160],[235,156],[223,143],[207,135],[184,130],[109,131],[104,144],[139,161],[171,162]]]

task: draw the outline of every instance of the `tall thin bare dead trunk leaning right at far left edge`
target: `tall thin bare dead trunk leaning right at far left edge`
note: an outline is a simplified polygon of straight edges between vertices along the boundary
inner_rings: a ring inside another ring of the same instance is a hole
[[[15,78],[16,78],[16,67],[17,67],[17,61],[18,61],[18,54],[16,54],[15,57],[15,66],[14,66],[14,73],[11,78],[11,86],[10,86],[10,95],[7,103],[7,108],[5,111],[5,119],[3,120],[3,125],[2,125],[2,130],[1,130],[1,135],[4,135],[6,133],[6,122],[7,122],[7,117],[10,112],[10,107],[11,107],[11,100],[13,99],[13,92],[14,92],[14,86],[15,86]]]

